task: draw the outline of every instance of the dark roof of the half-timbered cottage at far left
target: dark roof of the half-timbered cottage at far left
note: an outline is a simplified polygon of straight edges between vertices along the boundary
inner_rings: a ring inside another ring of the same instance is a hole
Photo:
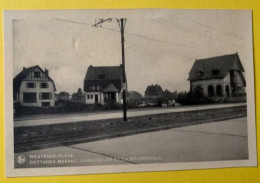
[[[18,93],[19,92],[22,81],[26,78],[26,76],[30,72],[34,71],[36,68],[40,69],[40,71],[45,73],[39,65],[35,65],[35,66],[32,66],[32,67],[28,67],[28,68],[23,69],[22,72],[20,72],[17,76],[15,76],[15,78],[13,79],[13,92],[14,93]],[[45,76],[48,77],[48,79],[53,82],[54,90],[56,91],[56,87],[55,87],[54,81],[50,78],[49,75],[46,75],[46,73],[45,73]]]

